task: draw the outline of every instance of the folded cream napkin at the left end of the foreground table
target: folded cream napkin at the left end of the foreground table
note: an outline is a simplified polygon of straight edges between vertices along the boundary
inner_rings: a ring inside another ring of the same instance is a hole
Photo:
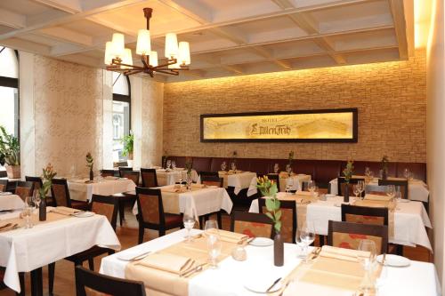
[[[155,268],[181,275],[195,265],[195,260],[170,253],[153,253],[137,263],[146,268]]]

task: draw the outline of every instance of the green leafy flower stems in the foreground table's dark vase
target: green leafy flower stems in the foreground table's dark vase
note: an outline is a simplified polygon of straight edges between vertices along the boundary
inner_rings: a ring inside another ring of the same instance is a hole
[[[273,227],[277,232],[281,230],[281,211],[279,210],[279,199],[277,198],[278,188],[277,183],[269,180],[267,176],[263,176],[256,180],[258,188],[263,196],[270,196],[266,199],[266,215],[273,221]]]

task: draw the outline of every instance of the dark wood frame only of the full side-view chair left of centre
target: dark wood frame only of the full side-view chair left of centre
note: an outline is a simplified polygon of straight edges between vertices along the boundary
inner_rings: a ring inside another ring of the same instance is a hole
[[[147,196],[158,196],[158,212],[159,212],[159,224],[149,223],[145,222],[143,220],[142,216],[142,206],[140,203],[139,195],[147,195]],[[162,203],[162,193],[160,189],[153,189],[153,188],[136,188],[136,203],[138,207],[138,221],[139,221],[139,237],[138,237],[138,244],[142,244],[143,242],[143,236],[145,228],[158,230],[159,236],[165,236],[166,230],[173,229],[173,228],[183,228],[183,223],[181,220],[181,223],[170,225],[168,228],[166,226],[166,213],[164,212],[164,204]]]

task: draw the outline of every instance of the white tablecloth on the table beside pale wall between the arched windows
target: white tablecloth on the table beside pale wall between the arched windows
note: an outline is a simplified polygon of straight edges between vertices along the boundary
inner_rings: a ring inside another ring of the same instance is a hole
[[[136,188],[133,180],[94,180],[94,183],[85,183],[85,180],[68,181],[69,196],[71,199],[80,201],[91,201],[91,196],[111,196],[116,193],[133,191]]]

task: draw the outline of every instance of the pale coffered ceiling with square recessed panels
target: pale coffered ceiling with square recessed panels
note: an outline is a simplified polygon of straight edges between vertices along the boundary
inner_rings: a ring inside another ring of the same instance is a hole
[[[428,0],[425,0],[428,1]],[[2,0],[0,44],[103,67],[105,42],[125,34],[134,52],[153,8],[152,47],[190,42],[190,71],[207,77],[406,60],[414,52],[413,0]],[[139,56],[134,53],[134,63]]]

